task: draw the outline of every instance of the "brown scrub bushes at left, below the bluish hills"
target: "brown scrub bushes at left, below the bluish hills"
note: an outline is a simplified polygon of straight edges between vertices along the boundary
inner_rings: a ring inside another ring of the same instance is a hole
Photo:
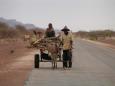
[[[43,30],[39,28],[28,29],[23,25],[16,25],[15,28],[13,28],[6,23],[0,22],[0,39],[23,38],[25,34],[31,34],[33,30],[43,32]]]

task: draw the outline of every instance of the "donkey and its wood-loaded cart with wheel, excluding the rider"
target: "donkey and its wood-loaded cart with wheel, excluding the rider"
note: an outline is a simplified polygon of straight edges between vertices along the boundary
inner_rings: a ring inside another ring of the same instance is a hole
[[[51,62],[52,68],[57,68],[57,62],[63,62],[61,42],[57,37],[44,38],[35,42],[39,54],[34,56],[34,67],[39,68],[40,62]],[[44,52],[47,53],[44,53]]]

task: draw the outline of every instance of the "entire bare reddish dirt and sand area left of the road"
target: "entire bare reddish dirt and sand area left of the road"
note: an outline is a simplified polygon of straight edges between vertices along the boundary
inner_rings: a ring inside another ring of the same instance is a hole
[[[23,41],[0,43],[0,86],[24,86],[35,50]]]

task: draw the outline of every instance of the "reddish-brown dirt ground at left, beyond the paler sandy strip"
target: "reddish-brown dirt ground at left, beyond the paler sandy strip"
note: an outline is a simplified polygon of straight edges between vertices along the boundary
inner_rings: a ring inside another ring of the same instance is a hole
[[[0,42],[0,68],[14,59],[31,52],[33,49],[28,49],[27,45],[28,42],[22,40],[3,40]]]

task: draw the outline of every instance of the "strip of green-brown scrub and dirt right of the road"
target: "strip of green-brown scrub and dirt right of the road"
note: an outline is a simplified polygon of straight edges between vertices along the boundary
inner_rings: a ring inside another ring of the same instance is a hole
[[[79,31],[76,32],[76,37],[85,38],[93,41],[99,41],[115,46],[115,31],[112,30],[97,30],[97,31]]]

